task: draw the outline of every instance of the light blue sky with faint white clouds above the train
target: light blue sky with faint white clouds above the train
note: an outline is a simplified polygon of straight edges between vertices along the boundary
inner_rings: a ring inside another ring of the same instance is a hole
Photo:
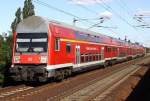
[[[73,19],[75,18],[78,20],[75,23],[77,27],[115,38],[124,39],[126,37],[131,42],[139,42],[150,47],[150,28],[135,27],[141,25],[141,23],[134,19],[139,12],[144,14],[147,11],[147,16],[150,16],[150,0],[33,0],[33,4],[37,16],[70,25],[73,25]],[[1,1],[0,33],[10,30],[17,8],[23,8],[23,5],[24,0]],[[52,9],[51,6],[58,8],[59,11]],[[68,15],[68,13],[73,16]],[[102,19],[98,18],[103,18],[104,22],[100,23]],[[146,23],[150,22],[148,17],[143,20]],[[97,23],[99,23],[97,26],[92,27]]]

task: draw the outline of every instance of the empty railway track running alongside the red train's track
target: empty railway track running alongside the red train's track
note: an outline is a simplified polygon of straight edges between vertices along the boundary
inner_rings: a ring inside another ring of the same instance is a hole
[[[145,62],[147,63],[148,60]],[[76,86],[62,94],[50,97],[47,101],[101,101],[115,87],[142,68],[139,64],[143,63],[143,61],[140,61],[137,64],[130,65],[128,68],[120,68],[86,84]]]

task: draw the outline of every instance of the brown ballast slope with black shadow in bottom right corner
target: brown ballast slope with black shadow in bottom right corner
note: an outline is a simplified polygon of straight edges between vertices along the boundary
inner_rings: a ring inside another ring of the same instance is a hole
[[[150,62],[114,89],[103,101],[150,101]]]

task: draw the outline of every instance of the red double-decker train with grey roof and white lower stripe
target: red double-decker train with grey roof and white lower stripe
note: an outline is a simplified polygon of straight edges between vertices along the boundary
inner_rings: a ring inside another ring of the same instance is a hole
[[[10,74],[15,81],[62,80],[76,71],[144,53],[140,45],[31,16],[20,22],[14,33]]]

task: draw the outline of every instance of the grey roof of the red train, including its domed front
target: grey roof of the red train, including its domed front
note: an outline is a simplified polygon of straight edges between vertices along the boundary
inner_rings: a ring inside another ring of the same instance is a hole
[[[113,38],[113,37],[110,37],[110,36],[107,36],[107,35],[103,35],[101,33],[86,30],[86,29],[83,29],[83,28],[78,28],[76,26],[69,25],[69,24],[66,24],[66,23],[63,23],[63,22],[58,22],[56,20],[49,20],[47,18],[40,17],[40,16],[31,16],[31,17],[28,17],[28,18],[24,19],[22,22],[20,22],[17,25],[16,32],[17,33],[48,32],[48,25],[49,24],[57,25],[57,26],[65,27],[65,28],[69,28],[69,29],[73,29],[75,31],[79,31],[79,32],[82,32],[82,33],[90,34],[90,35],[104,37],[106,39],[111,39],[112,41],[114,41],[115,43],[118,43],[120,45],[134,46],[133,44],[131,44],[131,43],[129,44],[128,42],[125,42],[124,40],[119,40],[117,38]]]

